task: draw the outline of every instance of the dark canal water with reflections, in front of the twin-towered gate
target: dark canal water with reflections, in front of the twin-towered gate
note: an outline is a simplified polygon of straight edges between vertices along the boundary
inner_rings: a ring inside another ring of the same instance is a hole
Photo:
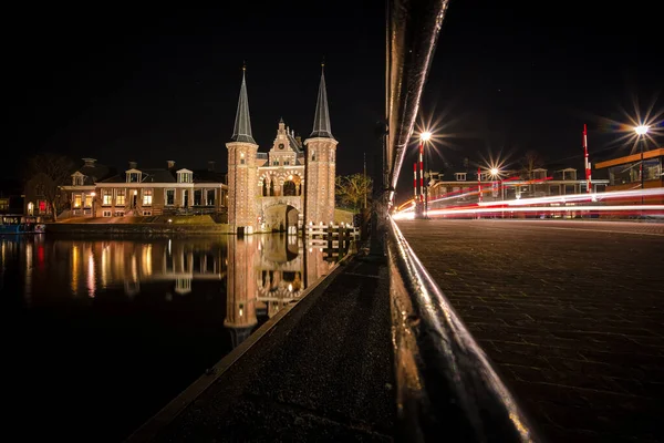
[[[122,441],[332,265],[286,235],[0,237],[4,434]]]

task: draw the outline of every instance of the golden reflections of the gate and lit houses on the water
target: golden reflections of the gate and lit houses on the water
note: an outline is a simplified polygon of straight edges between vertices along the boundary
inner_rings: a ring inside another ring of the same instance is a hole
[[[302,239],[277,234],[147,241],[55,240],[52,249],[56,256],[69,255],[69,287],[74,297],[95,298],[100,291],[122,288],[133,299],[147,286],[155,292],[156,285],[162,288],[163,302],[197,290],[212,289],[219,296],[226,292],[224,326],[234,348],[334,265],[324,259],[321,247],[304,248]],[[25,256],[32,260],[32,251]]]

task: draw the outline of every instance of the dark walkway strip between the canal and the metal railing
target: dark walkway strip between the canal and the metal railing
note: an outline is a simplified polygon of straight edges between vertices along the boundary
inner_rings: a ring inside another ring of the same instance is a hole
[[[352,258],[177,416],[167,406],[129,441],[392,441],[388,297],[386,265]]]

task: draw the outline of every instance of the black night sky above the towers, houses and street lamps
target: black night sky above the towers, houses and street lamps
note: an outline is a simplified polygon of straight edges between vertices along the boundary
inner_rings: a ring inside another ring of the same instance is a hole
[[[264,152],[281,116],[310,134],[324,56],[338,171],[361,172],[383,115],[384,2],[222,3],[232,6],[7,10],[3,152],[121,168],[211,159],[226,171],[242,61]],[[452,0],[422,109],[445,135],[433,168],[500,151],[518,163],[527,150],[581,168],[583,123],[591,159],[629,151],[601,117],[629,123],[622,112],[634,114],[633,99],[645,111],[662,92],[654,11],[640,1],[529,3]],[[404,165],[409,172],[412,159]]]

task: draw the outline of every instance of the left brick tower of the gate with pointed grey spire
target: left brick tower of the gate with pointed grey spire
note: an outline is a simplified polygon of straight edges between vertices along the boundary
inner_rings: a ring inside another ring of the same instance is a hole
[[[228,224],[234,233],[253,234],[258,224],[258,145],[251,135],[249,99],[242,68],[242,85],[235,127],[228,148]]]

